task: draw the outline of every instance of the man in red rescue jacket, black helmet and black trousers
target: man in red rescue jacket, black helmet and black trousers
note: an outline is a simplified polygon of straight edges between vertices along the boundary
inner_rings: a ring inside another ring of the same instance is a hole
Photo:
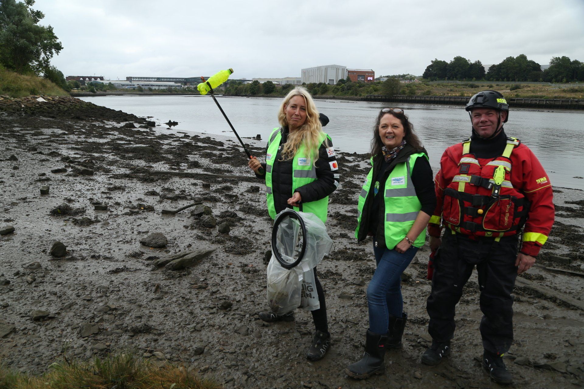
[[[552,187],[533,152],[505,134],[509,104],[502,94],[479,92],[466,110],[472,136],[446,149],[435,178],[438,205],[428,233],[430,248],[440,250],[426,306],[433,342],[422,362],[437,365],[449,355],[454,307],[476,265],[483,366],[493,380],[509,384],[512,376],[501,356],[513,342],[511,292],[517,274],[533,266],[550,234]]]

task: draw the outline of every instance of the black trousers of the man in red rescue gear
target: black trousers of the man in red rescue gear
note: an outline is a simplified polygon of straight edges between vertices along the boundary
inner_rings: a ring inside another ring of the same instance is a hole
[[[517,278],[517,236],[472,240],[446,229],[440,255],[434,261],[432,293],[426,310],[430,316],[428,332],[437,342],[454,337],[454,307],[463,287],[477,266],[480,306],[483,313],[481,337],[485,350],[505,353],[513,342],[513,297]]]

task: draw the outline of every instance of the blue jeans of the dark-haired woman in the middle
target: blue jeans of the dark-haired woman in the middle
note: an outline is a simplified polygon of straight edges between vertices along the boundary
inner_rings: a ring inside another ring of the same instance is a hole
[[[377,269],[367,287],[369,331],[387,334],[389,315],[402,317],[404,300],[401,295],[401,274],[408,267],[418,247],[410,247],[404,254],[387,247],[373,246]]]

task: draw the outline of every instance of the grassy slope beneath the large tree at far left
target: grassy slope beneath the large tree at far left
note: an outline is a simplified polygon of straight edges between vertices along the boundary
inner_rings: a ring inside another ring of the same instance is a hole
[[[0,66],[0,94],[10,97],[26,97],[31,94],[45,96],[68,96],[69,93],[47,79],[35,75],[23,75],[8,71]]]

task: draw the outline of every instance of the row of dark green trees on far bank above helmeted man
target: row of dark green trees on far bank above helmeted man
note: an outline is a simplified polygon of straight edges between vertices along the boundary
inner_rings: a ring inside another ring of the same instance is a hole
[[[584,81],[584,63],[569,57],[552,57],[550,67],[541,70],[541,65],[520,54],[507,57],[499,64],[491,65],[487,72],[481,61],[471,62],[464,57],[454,57],[446,62],[434,59],[426,67],[423,78],[430,80],[489,80],[532,82]]]

